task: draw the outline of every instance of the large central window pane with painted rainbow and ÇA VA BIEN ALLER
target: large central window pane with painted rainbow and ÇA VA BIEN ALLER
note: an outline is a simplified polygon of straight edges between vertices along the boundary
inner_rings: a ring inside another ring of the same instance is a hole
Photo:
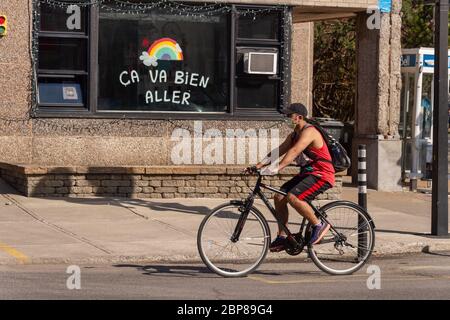
[[[226,112],[227,14],[100,13],[99,110]]]

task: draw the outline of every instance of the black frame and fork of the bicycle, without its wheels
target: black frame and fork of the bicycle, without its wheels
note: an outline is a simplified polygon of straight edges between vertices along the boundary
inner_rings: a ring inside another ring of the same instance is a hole
[[[269,209],[269,211],[272,213],[273,217],[277,221],[277,223],[280,226],[281,230],[283,230],[286,233],[287,238],[289,239],[289,241],[291,243],[293,241],[294,245],[298,244],[297,241],[295,240],[295,238],[293,237],[292,232],[289,230],[289,228],[286,227],[284,224],[282,224],[281,221],[279,220],[279,218],[277,217],[277,211],[272,206],[272,204],[267,199],[267,197],[264,195],[264,193],[261,191],[261,188],[273,191],[273,192],[281,194],[283,196],[287,196],[287,193],[262,183],[262,177],[263,176],[258,172],[258,181],[256,182],[255,188],[253,189],[252,193],[248,196],[247,200],[244,202],[245,208],[241,211],[242,215],[239,218],[239,221],[238,221],[238,223],[236,225],[235,231],[234,231],[234,233],[233,233],[233,235],[231,237],[231,241],[233,241],[233,242],[239,241],[239,236],[240,236],[240,234],[242,232],[242,229],[244,228],[245,221],[247,220],[248,214],[250,212],[250,208],[253,206],[253,203],[255,201],[255,196],[258,196],[264,202],[264,204]],[[322,218],[322,220],[324,220],[325,222],[327,222],[330,225],[330,229],[333,230],[336,235],[338,235],[339,240],[346,241],[345,237],[342,234],[340,234],[339,232],[337,232],[337,230],[331,225],[331,223],[329,223],[329,221],[322,214],[322,212],[320,210],[318,210],[312,204],[311,201],[306,200],[306,203],[308,203],[308,205],[314,210],[314,213],[316,214],[316,216]],[[300,231],[299,231],[300,234],[303,234],[303,231],[304,231],[304,228],[305,228],[305,224],[306,224],[306,218],[303,217],[302,224],[301,224]]]

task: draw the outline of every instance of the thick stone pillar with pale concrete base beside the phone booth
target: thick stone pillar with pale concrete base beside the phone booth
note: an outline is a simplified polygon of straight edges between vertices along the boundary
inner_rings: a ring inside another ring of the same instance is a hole
[[[359,144],[367,146],[369,188],[401,191],[402,141],[398,133],[401,93],[401,7],[392,2],[381,14],[381,28],[367,27],[368,14],[357,18],[357,102],[353,161]],[[353,167],[356,181],[357,168]]]

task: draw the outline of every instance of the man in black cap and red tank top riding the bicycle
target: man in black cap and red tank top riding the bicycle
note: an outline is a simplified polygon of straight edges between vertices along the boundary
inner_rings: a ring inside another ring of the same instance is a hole
[[[311,222],[313,229],[310,244],[314,245],[322,240],[330,225],[326,222],[321,223],[305,200],[312,201],[317,195],[332,188],[335,183],[335,171],[322,134],[306,121],[308,116],[306,107],[301,103],[294,103],[284,113],[295,128],[278,148],[279,156],[284,156],[283,159],[279,164],[271,163],[272,153],[269,153],[255,167],[262,169],[262,175],[276,175],[294,161],[301,166],[300,173],[281,187],[287,195],[275,195],[275,208],[278,218],[286,226],[289,219],[288,203]],[[279,227],[276,239],[270,244],[270,251],[284,250],[286,242],[286,234]]]

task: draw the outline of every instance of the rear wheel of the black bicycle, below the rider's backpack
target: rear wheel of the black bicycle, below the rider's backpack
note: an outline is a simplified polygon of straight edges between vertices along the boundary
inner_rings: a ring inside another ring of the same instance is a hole
[[[336,231],[330,229],[320,243],[308,246],[310,258],[319,269],[332,275],[358,271],[375,246],[372,219],[361,207],[348,201],[329,203],[322,212]]]

